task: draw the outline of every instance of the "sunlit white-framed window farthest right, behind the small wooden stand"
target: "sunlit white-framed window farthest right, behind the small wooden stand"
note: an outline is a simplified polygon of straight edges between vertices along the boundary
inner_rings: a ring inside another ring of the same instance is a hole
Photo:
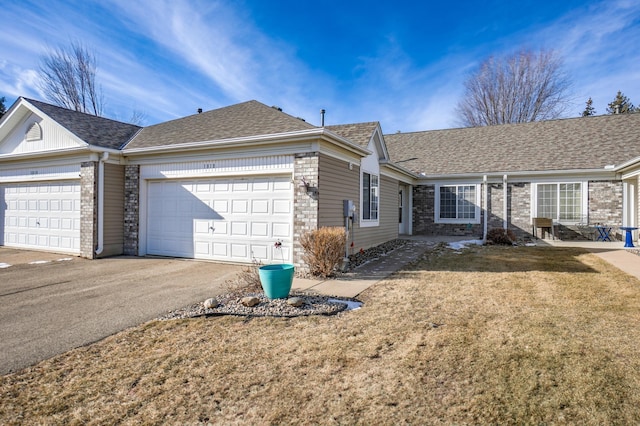
[[[537,184],[535,217],[580,222],[586,212],[586,187],[581,182]]]

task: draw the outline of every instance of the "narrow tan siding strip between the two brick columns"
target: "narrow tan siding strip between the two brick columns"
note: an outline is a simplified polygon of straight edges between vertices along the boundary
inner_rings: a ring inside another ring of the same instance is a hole
[[[100,257],[123,253],[124,166],[104,165],[104,250]]]

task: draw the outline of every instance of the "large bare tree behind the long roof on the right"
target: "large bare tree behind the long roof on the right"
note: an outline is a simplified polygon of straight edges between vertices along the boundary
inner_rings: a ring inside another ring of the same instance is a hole
[[[489,57],[464,83],[458,103],[466,127],[558,118],[569,106],[571,83],[552,50]]]

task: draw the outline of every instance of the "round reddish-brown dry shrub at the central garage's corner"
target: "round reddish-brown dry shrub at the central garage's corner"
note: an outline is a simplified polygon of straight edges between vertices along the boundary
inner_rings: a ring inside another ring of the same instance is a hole
[[[327,278],[335,273],[344,258],[346,233],[341,227],[324,227],[303,234],[302,259],[311,275]]]

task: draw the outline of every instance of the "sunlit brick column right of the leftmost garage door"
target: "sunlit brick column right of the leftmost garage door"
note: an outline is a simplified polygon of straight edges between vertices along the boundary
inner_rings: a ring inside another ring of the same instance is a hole
[[[80,165],[80,256],[95,258],[98,241],[98,163]]]

